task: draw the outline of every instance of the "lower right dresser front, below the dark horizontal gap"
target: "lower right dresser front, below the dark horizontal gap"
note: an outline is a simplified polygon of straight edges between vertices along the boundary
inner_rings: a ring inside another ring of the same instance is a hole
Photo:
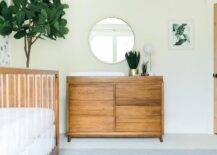
[[[161,108],[158,106],[117,106],[116,131],[161,131]]]

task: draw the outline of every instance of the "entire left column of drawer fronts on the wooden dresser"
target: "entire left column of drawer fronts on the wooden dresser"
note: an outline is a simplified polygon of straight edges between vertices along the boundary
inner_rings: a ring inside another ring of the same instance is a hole
[[[76,84],[69,86],[70,133],[114,131],[114,86]]]

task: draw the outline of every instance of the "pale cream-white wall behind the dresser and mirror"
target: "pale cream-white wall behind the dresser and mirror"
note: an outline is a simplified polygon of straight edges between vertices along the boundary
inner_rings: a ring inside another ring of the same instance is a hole
[[[33,48],[32,68],[61,73],[61,132],[65,131],[65,76],[72,71],[124,71],[126,62],[108,65],[96,60],[88,46],[92,26],[105,17],[119,17],[133,28],[135,49],[152,43],[154,71],[165,77],[167,133],[213,131],[212,7],[207,0],[67,0],[70,33],[65,40],[40,41]],[[195,48],[168,50],[168,22],[193,20]],[[13,66],[25,65],[23,41],[13,41]]]

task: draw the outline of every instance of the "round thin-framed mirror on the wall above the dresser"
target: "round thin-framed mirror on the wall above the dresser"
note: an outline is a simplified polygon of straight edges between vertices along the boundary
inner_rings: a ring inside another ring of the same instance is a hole
[[[98,22],[89,36],[94,55],[105,63],[118,63],[125,60],[125,53],[134,46],[131,27],[118,18],[106,18]]]

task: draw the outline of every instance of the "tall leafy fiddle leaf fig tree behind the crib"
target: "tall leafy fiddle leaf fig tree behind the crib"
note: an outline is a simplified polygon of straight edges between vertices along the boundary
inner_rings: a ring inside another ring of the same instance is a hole
[[[0,2],[0,35],[14,34],[24,40],[26,67],[29,67],[32,46],[38,39],[65,38],[69,29],[63,18],[67,4],[61,0],[12,0]]]

